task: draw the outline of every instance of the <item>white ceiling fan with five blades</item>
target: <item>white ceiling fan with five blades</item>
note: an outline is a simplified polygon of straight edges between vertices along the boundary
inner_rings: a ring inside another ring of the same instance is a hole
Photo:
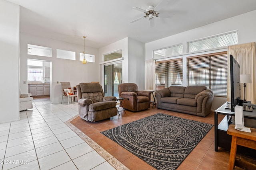
[[[169,1],[170,0],[162,0],[156,7],[149,6],[146,10],[143,10],[141,8],[138,8],[138,7],[133,7],[132,9],[134,9],[134,10],[144,12],[145,16],[137,18],[136,20],[132,20],[131,23],[134,23],[134,22],[136,22],[138,20],[141,20],[143,18],[149,18],[150,27],[154,27],[154,25],[155,25],[154,17],[159,17],[158,16],[159,15],[158,11],[161,10],[164,6],[166,6],[169,3]]]

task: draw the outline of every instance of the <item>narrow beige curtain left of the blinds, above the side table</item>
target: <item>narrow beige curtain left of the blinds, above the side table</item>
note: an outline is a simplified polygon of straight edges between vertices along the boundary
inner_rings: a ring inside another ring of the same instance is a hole
[[[154,59],[146,61],[146,89],[155,89],[155,67],[156,62]]]

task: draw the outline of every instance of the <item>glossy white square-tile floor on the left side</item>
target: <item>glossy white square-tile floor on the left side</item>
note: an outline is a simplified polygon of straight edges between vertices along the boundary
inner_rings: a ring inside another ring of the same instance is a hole
[[[77,104],[33,101],[20,121],[0,124],[0,169],[114,170],[64,122],[78,114]]]

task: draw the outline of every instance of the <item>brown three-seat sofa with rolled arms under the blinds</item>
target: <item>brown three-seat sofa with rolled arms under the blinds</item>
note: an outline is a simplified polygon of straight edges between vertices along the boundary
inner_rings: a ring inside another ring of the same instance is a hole
[[[205,86],[170,86],[155,94],[159,109],[205,117],[212,107],[213,92]]]

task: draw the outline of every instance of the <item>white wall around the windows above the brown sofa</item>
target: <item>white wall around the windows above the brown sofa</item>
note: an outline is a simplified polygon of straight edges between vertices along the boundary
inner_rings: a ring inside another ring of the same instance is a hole
[[[238,44],[254,42],[256,41],[255,19],[256,10],[146,43],[146,60],[153,58],[153,50],[170,47],[180,43],[183,43],[183,51],[184,54],[186,54],[188,41],[225,33],[228,31],[238,30]],[[186,71],[184,72],[183,77],[186,77]],[[218,107],[225,102],[226,98],[214,97],[212,110],[218,109]]]

